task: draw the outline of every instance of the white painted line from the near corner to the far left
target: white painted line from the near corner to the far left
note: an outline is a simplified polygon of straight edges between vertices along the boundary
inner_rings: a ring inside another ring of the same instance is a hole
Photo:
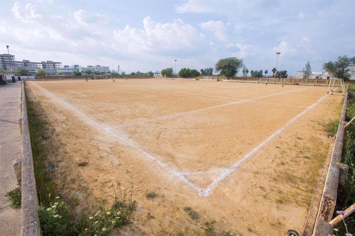
[[[156,159],[152,154],[148,153],[147,151],[145,151],[143,148],[138,147],[137,145],[132,144],[131,142],[129,142],[128,140],[123,139],[123,137],[121,137],[120,135],[118,135],[117,133],[115,133],[114,131],[112,131],[110,127],[105,127],[101,124],[99,124],[98,122],[96,122],[95,120],[91,119],[89,116],[87,116],[86,114],[82,113],[81,111],[79,111],[78,109],[76,109],[74,106],[70,105],[69,103],[65,102],[64,100],[60,99],[59,97],[57,97],[56,95],[52,94],[51,92],[49,92],[48,90],[46,90],[45,88],[41,87],[40,85],[36,84],[36,83],[32,83],[34,85],[36,85],[39,89],[41,89],[43,92],[45,92],[46,94],[48,94],[49,96],[51,96],[54,99],[57,99],[58,101],[60,101],[62,104],[65,104],[68,108],[72,109],[73,111],[75,111],[77,114],[81,115],[84,117],[84,119],[88,122],[91,123],[92,125],[96,126],[97,128],[106,131],[108,133],[110,133],[111,135],[117,137],[117,139],[121,140],[123,143],[126,143],[127,145],[129,145],[130,147],[132,147],[133,149],[145,154],[148,159],[150,159],[153,162],[156,162],[159,166],[163,167],[164,169],[170,171],[173,175],[175,175],[176,177],[178,177],[180,180],[182,180],[183,182],[187,183],[188,185],[190,185],[193,189],[195,189],[198,192],[202,192],[203,190],[201,188],[199,188],[196,184],[192,183],[190,180],[188,180],[184,175],[181,174],[180,171],[175,170],[173,168],[171,168],[168,164],[163,163],[162,161]]]

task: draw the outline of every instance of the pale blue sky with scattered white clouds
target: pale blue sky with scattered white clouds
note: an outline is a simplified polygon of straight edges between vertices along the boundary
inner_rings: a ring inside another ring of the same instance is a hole
[[[295,75],[355,56],[354,0],[0,0],[0,54],[132,71],[243,58]],[[3,46],[1,46],[3,45]]]

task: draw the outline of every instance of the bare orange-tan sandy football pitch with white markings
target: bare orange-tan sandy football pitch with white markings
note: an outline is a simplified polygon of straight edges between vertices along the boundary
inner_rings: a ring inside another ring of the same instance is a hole
[[[159,235],[199,235],[206,222],[234,235],[302,231],[330,144],[325,126],[343,99],[326,87],[206,81],[26,87],[56,129],[63,191],[85,206],[130,189],[137,209],[126,231]]]

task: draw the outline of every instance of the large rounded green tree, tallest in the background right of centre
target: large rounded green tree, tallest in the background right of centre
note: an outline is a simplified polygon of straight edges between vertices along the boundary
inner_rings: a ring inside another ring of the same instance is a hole
[[[231,77],[235,76],[239,69],[244,66],[243,59],[237,57],[227,57],[220,59],[216,64],[216,71],[227,77],[229,80]]]

